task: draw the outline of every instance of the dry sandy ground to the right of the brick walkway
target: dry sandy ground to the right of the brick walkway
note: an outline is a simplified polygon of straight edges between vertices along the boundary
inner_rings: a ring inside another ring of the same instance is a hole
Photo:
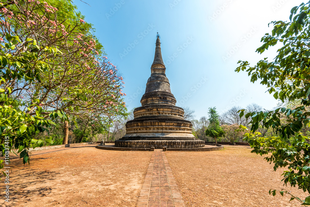
[[[213,152],[166,152],[186,206],[300,206],[290,196],[273,197],[269,189],[285,188],[305,198],[308,193],[283,187],[283,169],[273,172],[249,148],[224,147]]]

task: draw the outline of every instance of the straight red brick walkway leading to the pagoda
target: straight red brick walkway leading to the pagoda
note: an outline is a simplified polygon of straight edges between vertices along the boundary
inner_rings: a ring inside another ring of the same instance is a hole
[[[155,151],[151,157],[137,207],[185,207],[166,155]]]

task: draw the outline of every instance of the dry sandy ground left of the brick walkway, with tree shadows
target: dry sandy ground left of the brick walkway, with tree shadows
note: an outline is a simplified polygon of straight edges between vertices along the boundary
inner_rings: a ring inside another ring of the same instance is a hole
[[[12,160],[14,192],[2,206],[135,206],[152,152],[62,149],[31,157],[30,166]]]

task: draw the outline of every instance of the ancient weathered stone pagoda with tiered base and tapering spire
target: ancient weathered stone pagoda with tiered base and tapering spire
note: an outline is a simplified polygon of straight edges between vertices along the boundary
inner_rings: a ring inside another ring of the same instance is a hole
[[[155,57],[145,93],[134,119],[126,123],[126,134],[115,141],[115,147],[125,148],[200,148],[204,141],[192,134],[192,123],[184,120],[183,108],[175,106],[170,91],[166,67],[162,61],[160,36],[157,33]]]

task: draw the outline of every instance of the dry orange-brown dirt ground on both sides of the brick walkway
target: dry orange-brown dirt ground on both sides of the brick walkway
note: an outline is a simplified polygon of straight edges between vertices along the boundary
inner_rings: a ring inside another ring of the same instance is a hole
[[[36,152],[30,166],[11,161],[11,200],[2,206],[135,206],[152,152],[109,151],[95,145]],[[42,154],[45,153],[45,154]],[[34,153],[35,154],[35,153]],[[299,206],[281,189],[282,170],[273,172],[246,147],[211,152],[166,152],[186,205]],[[2,176],[3,177],[3,176]],[[0,181],[3,187],[3,178]],[[286,187],[296,196],[307,194]]]

